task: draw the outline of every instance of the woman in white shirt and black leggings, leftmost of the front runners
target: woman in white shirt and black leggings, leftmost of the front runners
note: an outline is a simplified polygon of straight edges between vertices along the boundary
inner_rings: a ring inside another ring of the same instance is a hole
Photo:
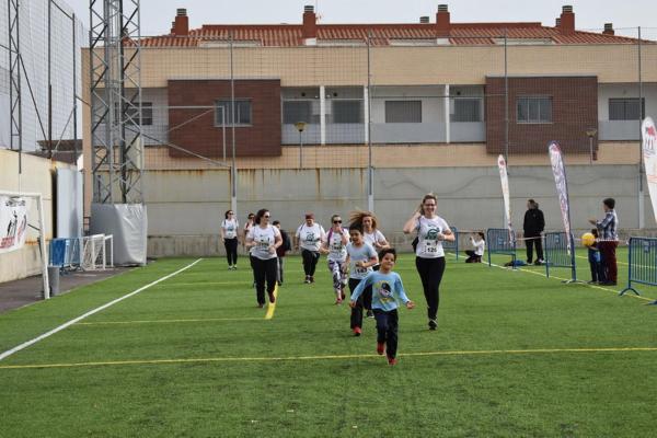
[[[254,226],[246,234],[246,247],[251,249],[257,306],[265,306],[265,281],[269,302],[276,302],[276,270],[278,262],[276,250],[283,244],[278,228],[269,224],[269,210],[261,209],[255,215]]]

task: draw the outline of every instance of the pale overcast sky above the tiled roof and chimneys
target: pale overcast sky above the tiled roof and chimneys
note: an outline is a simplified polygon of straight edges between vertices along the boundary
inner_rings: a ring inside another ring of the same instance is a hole
[[[89,0],[65,0],[88,26]],[[100,0],[99,0],[100,1]],[[435,22],[438,3],[447,3],[452,22],[542,22],[554,25],[563,4],[572,4],[578,30],[646,28],[657,35],[657,0],[141,0],[141,34],[166,34],[177,8],[186,8],[189,27],[203,24],[301,23],[304,4],[315,5],[320,23]],[[626,33],[626,32],[623,32]]]

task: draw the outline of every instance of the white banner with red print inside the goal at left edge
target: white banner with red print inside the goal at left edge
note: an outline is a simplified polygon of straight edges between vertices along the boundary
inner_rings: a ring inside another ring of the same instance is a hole
[[[27,232],[28,200],[0,195],[0,254],[20,250]]]

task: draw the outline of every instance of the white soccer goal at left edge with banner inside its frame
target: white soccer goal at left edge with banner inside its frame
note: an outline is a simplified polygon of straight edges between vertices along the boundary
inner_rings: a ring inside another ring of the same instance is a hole
[[[35,203],[36,217],[33,216],[32,203]],[[48,256],[46,249],[46,220],[44,200],[41,193],[0,191],[0,235],[2,245],[0,255],[20,250],[27,234],[27,228],[38,233],[39,266],[44,287],[44,299],[50,298],[50,281],[48,279]],[[34,224],[36,220],[37,224]]]

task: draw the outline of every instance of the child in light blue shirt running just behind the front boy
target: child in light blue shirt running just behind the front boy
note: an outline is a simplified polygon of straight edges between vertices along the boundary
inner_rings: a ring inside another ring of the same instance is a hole
[[[349,226],[349,237],[351,242],[347,244],[347,261],[345,263],[349,266],[349,290],[354,293],[360,280],[372,272],[372,266],[379,263],[379,257],[374,249],[365,242],[360,223]],[[365,293],[358,297],[355,300],[356,303],[351,306],[354,336],[360,336],[362,332],[364,296],[368,291],[371,293],[371,288],[365,288]]]

